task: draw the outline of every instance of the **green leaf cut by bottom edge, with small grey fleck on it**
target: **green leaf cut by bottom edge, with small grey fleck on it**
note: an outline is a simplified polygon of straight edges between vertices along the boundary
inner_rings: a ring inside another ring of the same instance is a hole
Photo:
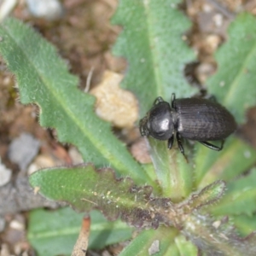
[[[158,230],[144,230],[125,247],[119,256],[151,255],[148,253],[148,249],[154,246],[154,242],[159,242],[160,251],[152,255],[178,256],[177,247],[173,241],[175,236],[177,236],[177,230],[165,227],[160,227]],[[170,250],[172,250],[172,254],[170,254]]]

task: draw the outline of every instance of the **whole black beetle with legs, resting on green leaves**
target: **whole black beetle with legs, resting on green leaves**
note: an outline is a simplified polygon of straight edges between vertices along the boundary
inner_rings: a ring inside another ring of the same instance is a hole
[[[236,130],[236,121],[231,113],[218,104],[201,98],[175,99],[172,104],[157,97],[154,106],[140,120],[142,136],[168,140],[168,148],[172,148],[176,135],[177,145],[184,154],[181,137],[198,141],[207,148],[221,150],[224,139]],[[207,141],[222,141],[221,146],[212,145]]]

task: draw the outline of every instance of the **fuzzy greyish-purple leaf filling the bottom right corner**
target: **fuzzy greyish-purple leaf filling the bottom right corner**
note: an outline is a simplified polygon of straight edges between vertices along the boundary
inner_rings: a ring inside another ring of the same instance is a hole
[[[256,255],[255,233],[241,238],[226,219],[211,220],[209,216],[195,212],[184,224],[183,235],[206,255]]]

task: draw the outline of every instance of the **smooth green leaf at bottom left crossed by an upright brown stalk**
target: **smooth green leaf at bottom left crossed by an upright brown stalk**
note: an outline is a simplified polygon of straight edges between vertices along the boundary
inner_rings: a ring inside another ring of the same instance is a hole
[[[54,212],[32,211],[27,237],[37,255],[70,255],[79,236],[83,216],[84,213],[76,213],[67,207]],[[90,248],[100,249],[131,238],[131,227],[120,220],[109,222],[97,211],[90,212],[90,220]]]

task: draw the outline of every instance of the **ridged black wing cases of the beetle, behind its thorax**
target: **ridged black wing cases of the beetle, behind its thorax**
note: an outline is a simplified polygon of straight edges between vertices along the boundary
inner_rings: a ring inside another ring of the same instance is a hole
[[[236,130],[236,121],[230,112],[205,99],[177,99],[177,132],[181,137],[195,141],[218,141]]]

